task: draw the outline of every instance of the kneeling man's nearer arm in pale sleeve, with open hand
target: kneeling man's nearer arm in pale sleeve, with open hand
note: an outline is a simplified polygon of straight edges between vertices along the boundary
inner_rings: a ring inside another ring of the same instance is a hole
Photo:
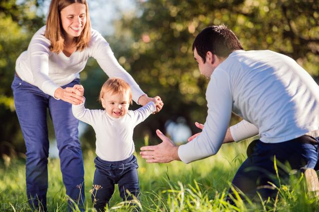
[[[175,147],[166,137],[156,146],[141,148],[141,155],[148,162],[170,162],[179,158],[184,163],[214,155],[223,143],[231,116],[232,94],[229,76],[223,70],[215,70],[206,91],[208,115],[202,133],[194,141]],[[165,141],[165,142],[164,142]],[[177,156],[174,155],[177,150]],[[161,152],[160,152],[161,151]],[[165,160],[156,156],[165,156]],[[150,161],[152,158],[152,161]]]

